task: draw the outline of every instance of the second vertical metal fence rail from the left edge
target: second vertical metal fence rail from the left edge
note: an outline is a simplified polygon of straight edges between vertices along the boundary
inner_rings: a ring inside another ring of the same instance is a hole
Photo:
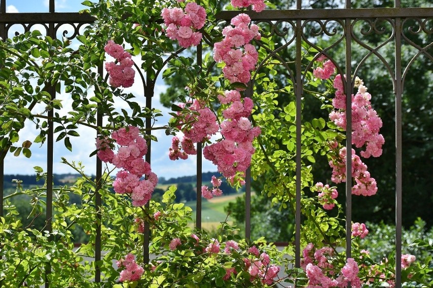
[[[50,0],[50,13],[55,12],[54,0]],[[55,39],[54,34],[54,23],[49,23],[48,25],[48,36]],[[48,85],[47,92],[51,95],[51,99],[55,99],[55,84],[46,83]],[[48,111],[48,135],[47,135],[47,199],[46,199],[46,226],[50,234],[52,232],[52,202],[53,202],[53,151],[54,151],[54,123],[52,118],[54,117],[54,109]],[[52,235],[48,237],[51,241]],[[48,274],[51,273],[51,264],[47,263],[45,265],[45,288],[49,288],[50,282],[48,279]]]

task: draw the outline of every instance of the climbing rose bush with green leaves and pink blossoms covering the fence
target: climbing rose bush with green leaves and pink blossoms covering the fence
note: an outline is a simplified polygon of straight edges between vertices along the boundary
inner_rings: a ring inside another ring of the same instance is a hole
[[[347,258],[341,248],[345,219],[332,183],[347,181],[348,155],[352,194],[380,197],[374,178],[380,175],[370,175],[362,158],[382,154],[382,121],[374,110],[374,91],[367,92],[361,79],[353,78],[352,131],[346,131],[345,83],[352,77],[338,73],[338,63],[317,49],[303,51],[302,65],[313,64],[303,75],[305,95],[317,97],[329,119],[301,121],[302,261],[300,268],[294,268],[292,244],[279,251],[263,238],[242,239],[227,221],[214,235],[191,228],[192,209],[174,203],[175,187],[168,189],[161,203],[152,201],[158,175],[145,158],[149,143],[157,140],[151,131],[165,129],[173,136],[168,158],[182,161],[202,146],[204,157],[223,175],[212,177],[209,186],[197,187],[203,197],[221,196],[223,181],[234,187],[244,185],[245,172],[251,167],[254,179],[268,175],[262,193],[273,197],[272,203],[281,209],[294,212],[295,89],[289,78],[283,83],[273,69],[286,64],[268,57],[268,51],[279,45],[272,34],[262,33],[241,11],[229,23],[218,22],[217,3],[209,0],[108,0],[84,1],[83,5],[89,8],[84,13],[96,21],[76,37],[77,50],[67,39],[42,37],[39,31],[0,43],[0,95],[4,96],[0,151],[3,158],[6,153],[30,157],[30,146],[47,140],[50,125],[54,125],[56,140],[63,140],[72,151],[70,137],[79,136],[79,126],[87,126],[98,135],[92,155],[111,165],[105,166],[101,179],[94,179],[80,163],[63,159],[81,177],[71,187],[54,189],[52,231],[37,230],[31,224],[23,227],[14,219],[17,211],[8,201],[29,195],[33,210],[28,217],[41,217],[48,183],[30,190],[17,187],[5,197],[5,213],[0,218],[0,285],[39,286],[48,270],[47,280],[55,287],[393,286],[398,261],[404,285],[431,286],[429,259],[422,262],[404,254],[397,260],[373,261],[360,245],[369,233],[363,223],[352,224],[352,257]],[[230,8],[250,6],[260,12],[265,2],[232,0]],[[192,57],[195,50],[180,56],[195,46],[205,54],[202,63]],[[98,74],[96,67],[105,68],[106,76]],[[172,106],[170,122],[156,125],[161,112],[142,107],[140,99],[123,88],[131,87],[138,74],[144,75],[145,96],[152,97],[161,73],[164,78],[182,74],[189,82]],[[63,101],[52,97],[54,91],[70,94],[71,106],[64,107]],[[279,103],[281,96],[286,101]],[[119,109],[125,106],[129,109]],[[53,113],[47,116],[45,112]],[[104,116],[102,126],[98,115]],[[20,133],[24,126],[35,128],[36,138]],[[352,134],[353,149],[344,146],[346,133]],[[326,184],[313,182],[313,165],[321,157],[329,163],[329,179],[322,179]],[[46,177],[42,168],[35,169],[38,177]],[[71,194],[79,195],[81,203],[69,203]],[[103,205],[98,204],[97,195]],[[89,258],[95,256],[97,226],[101,227],[103,258],[95,262]],[[77,227],[86,231],[89,242],[74,249],[72,231]],[[147,229],[154,257],[144,263]],[[417,243],[431,249],[431,243]],[[97,269],[102,273],[101,283],[92,282]]]

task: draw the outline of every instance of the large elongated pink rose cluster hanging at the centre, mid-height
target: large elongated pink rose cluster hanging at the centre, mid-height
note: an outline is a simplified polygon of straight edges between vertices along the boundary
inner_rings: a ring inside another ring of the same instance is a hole
[[[230,104],[223,111],[226,120],[221,123],[221,134],[224,139],[206,146],[203,155],[217,165],[218,171],[228,178],[237,172],[245,172],[250,166],[255,152],[253,140],[261,131],[259,127],[253,127],[247,118],[254,105],[251,98],[244,97],[242,103],[240,93],[236,90],[226,91],[225,96],[219,98],[223,104]]]

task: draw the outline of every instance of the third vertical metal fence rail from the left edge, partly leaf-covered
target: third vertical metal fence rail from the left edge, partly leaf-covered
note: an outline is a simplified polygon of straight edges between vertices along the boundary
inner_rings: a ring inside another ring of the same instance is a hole
[[[104,69],[103,65],[98,66],[98,74],[101,77],[104,77]],[[103,114],[98,109],[97,116],[96,116],[96,125],[98,127],[102,127],[102,120],[103,120]],[[97,131],[97,136],[99,136],[99,131]],[[102,199],[101,194],[99,193],[99,190],[102,188],[102,161],[99,159],[99,157],[96,157],[96,191],[95,191],[95,207],[96,207],[96,237],[95,237],[95,282],[101,282],[101,267],[100,267],[100,261],[101,261],[101,225],[102,225],[102,218],[101,218],[101,206],[102,206]]]

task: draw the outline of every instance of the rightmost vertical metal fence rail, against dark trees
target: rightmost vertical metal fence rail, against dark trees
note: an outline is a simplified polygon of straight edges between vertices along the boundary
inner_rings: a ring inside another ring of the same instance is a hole
[[[395,0],[395,7],[400,7],[400,0]],[[401,19],[395,18],[395,286],[401,287],[401,198],[402,198],[402,120],[401,94]]]

